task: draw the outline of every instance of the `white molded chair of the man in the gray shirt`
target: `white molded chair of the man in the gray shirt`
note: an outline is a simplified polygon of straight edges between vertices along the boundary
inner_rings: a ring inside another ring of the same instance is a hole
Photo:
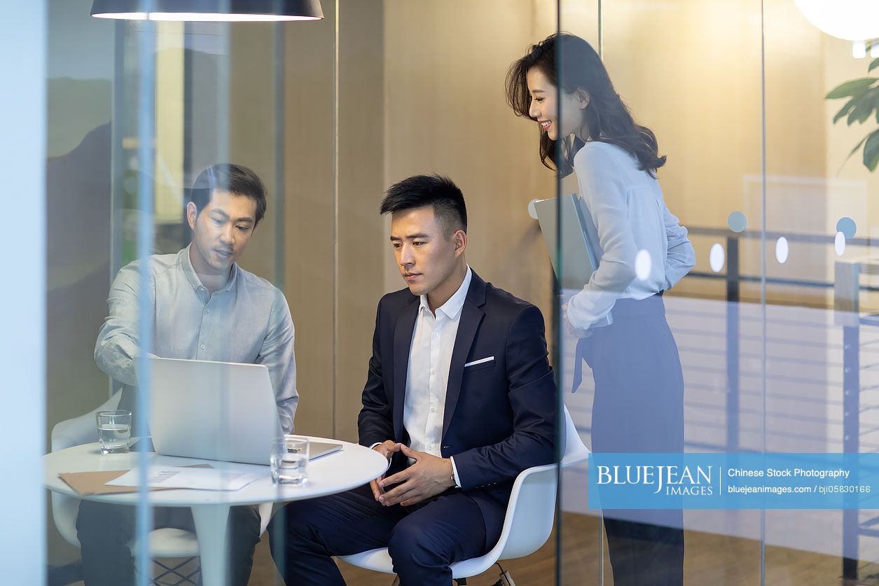
[[[52,428],[52,451],[58,452],[74,445],[90,444],[98,441],[98,430],[95,426],[95,413],[108,409],[116,409],[119,406],[121,392],[113,394],[113,396],[103,405],[94,409],[85,415],[74,417],[58,423]],[[79,503],[82,500],[75,496],[62,495],[60,493],[52,493],[52,518],[55,527],[62,537],[72,546],[79,547],[79,539],[76,538],[76,517],[79,515]],[[259,517],[261,524],[259,534],[265,532],[266,525],[272,517],[272,503],[263,503],[259,505]],[[138,544],[134,541],[128,544],[131,552],[135,556]],[[199,569],[184,575],[180,573],[181,568],[189,564],[193,558],[199,555],[199,542],[195,539],[193,532],[184,531],[182,529],[161,528],[155,529],[149,533],[149,557],[153,559],[153,563],[161,568],[160,575],[157,575],[154,583],[163,576],[173,574],[180,582],[196,583],[195,575],[200,573]],[[156,558],[185,558],[184,561],[176,566],[165,566]]]

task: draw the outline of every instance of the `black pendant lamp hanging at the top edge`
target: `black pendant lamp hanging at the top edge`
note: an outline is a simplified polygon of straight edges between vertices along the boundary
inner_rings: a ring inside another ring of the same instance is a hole
[[[91,16],[122,20],[274,22],[321,20],[320,0],[93,0]]]

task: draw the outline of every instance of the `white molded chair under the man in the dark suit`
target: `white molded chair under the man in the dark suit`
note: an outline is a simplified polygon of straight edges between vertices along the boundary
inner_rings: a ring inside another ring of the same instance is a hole
[[[565,443],[561,466],[564,468],[585,462],[589,458],[589,450],[580,439],[568,409],[563,409]],[[466,583],[470,576],[482,574],[500,560],[525,557],[546,543],[556,516],[556,478],[555,464],[535,466],[519,473],[512,485],[504,528],[497,545],[482,557],[452,564],[452,577],[459,584]],[[340,555],[338,559],[360,568],[385,574],[394,573],[387,547]]]

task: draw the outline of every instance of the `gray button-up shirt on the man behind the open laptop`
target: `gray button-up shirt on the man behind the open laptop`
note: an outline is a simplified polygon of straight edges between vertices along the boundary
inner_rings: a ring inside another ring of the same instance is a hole
[[[287,300],[265,279],[232,265],[229,283],[208,293],[193,269],[189,247],[147,259],[147,293],[154,319],[151,354],[162,358],[219,360],[266,365],[281,428],[293,432],[296,393],[294,327]],[[138,342],[137,260],[120,269],[110,288],[110,314],[98,333],[95,362],[126,386],[120,408],[134,405]],[[123,407],[124,406],[124,407]]]

